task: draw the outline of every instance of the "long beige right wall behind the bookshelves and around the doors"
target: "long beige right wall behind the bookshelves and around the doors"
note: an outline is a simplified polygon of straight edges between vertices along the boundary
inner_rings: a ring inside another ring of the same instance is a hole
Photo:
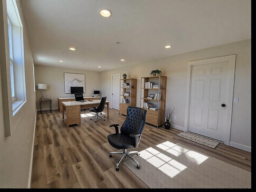
[[[172,116],[170,122],[172,127],[184,130],[188,62],[233,54],[236,54],[234,97],[239,98],[239,103],[233,103],[230,146],[251,151],[251,40],[102,72],[100,76],[105,81],[101,90],[111,101],[111,74],[126,73],[127,78],[137,78],[137,106],[140,106],[141,77],[148,76],[156,68],[162,70],[162,75],[167,76],[166,104],[178,107],[176,120]]]

